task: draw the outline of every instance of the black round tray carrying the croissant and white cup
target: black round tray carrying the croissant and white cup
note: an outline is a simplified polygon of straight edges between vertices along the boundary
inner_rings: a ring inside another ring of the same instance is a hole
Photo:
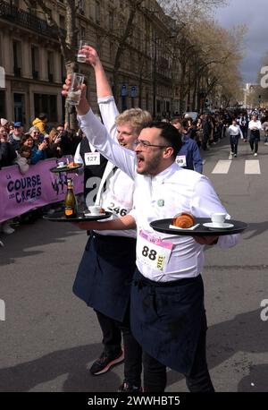
[[[172,229],[169,226],[172,225],[171,219],[159,219],[150,223],[153,229],[157,232],[162,232],[163,234],[171,235],[185,235],[185,236],[222,236],[222,235],[233,235],[239,234],[240,232],[247,229],[247,224],[240,222],[238,220],[226,219],[225,222],[228,224],[233,224],[233,227],[230,228],[209,228],[203,226],[207,222],[211,222],[211,218],[195,218],[196,224],[200,224],[194,230],[188,229]]]

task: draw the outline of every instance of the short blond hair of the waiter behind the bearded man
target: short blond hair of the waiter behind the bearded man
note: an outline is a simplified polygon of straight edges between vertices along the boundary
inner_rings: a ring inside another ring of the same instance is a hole
[[[133,127],[133,132],[139,134],[141,130],[152,121],[152,115],[141,108],[130,108],[119,114],[115,118],[116,125],[129,123]]]

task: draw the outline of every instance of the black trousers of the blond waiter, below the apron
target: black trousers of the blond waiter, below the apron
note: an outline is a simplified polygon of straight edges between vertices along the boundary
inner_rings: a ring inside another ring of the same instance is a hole
[[[121,350],[121,333],[124,344],[124,380],[131,385],[140,387],[142,372],[142,349],[130,330],[130,305],[122,322],[108,318],[101,312],[96,312],[103,332],[105,351],[113,354]]]

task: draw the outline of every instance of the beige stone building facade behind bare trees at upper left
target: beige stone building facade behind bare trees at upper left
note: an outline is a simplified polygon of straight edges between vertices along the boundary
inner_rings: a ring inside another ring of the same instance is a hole
[[[63,1],[46,1],[54,21],[66,26]],[[111,85],[116,88],[120,110],[142,107],[155,116],[172,111],[172,58],[167,47],[170,27],[155,0],[145,0],[135,12],[130,34],[122,47],[117,81],[114,63],[130,17],[129,0],[79,1],[77,38],[96,47]],[[21,121],[25,128],[40,112],[52,124],[63,122],[61,95],[65,65],[56,32],[44,13],[28,8],[23,0],[0,0],[0,66],[5,84],[0,86],[0,115]],[[91,67],[80,64],[88,81],[88,95],[97,112],[96,84]]]

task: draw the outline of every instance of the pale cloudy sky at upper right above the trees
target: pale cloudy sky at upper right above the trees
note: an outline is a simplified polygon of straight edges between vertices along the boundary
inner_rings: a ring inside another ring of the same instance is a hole
[[[215,17],[226,29],[237,24],[247,25],[246,56],[240,70],[245,82],[255,83],[262,57],[268,52],[268,1],[229,0],[229,6],[219,8]]]

